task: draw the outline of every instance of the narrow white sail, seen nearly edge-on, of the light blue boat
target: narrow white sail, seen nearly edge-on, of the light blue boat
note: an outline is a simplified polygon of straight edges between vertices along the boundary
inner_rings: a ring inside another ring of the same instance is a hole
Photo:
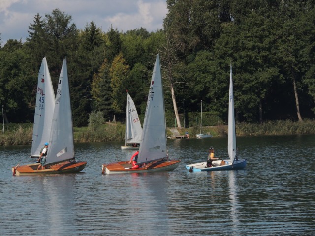
[[[233,95],[233,79],[232,79],[232,63],[230,69],[230,91],[229,91],[229,105],[228,105],[228,142],[227,151],[228,156],[233,163],[237,156],[236,150],[236,132],[235,132],[235,118],[234,118],[234,95]]]

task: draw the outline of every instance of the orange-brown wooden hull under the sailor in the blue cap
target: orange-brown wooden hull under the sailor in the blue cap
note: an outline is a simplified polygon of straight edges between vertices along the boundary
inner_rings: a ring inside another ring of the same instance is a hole
[[[39,163],[12,167],[13,175],[38,175],[38,174],[64,174],[82,171],[87,162],[85,161],[65,161],[49,166],[44,170],[37,170]]]

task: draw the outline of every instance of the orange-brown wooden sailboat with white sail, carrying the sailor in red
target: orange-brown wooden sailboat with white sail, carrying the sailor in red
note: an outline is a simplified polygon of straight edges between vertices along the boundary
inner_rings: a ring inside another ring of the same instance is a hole
[[[103,164],[102,173],[171,171],[178,167],[180,163],[180,160],[170,160],[168,157],[164,94],[159,54],[157,55],[153,69],[144,117],[141,145],[137,160],[139,168],[131,169],[132,165],[128,164],[128,161]]]

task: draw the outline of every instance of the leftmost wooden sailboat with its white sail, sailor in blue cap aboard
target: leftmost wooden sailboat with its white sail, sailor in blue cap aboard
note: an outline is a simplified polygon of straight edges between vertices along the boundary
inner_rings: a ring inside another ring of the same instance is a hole
[[[13,175],[63,174],[83,170],[87,162],[74,160],[73,127],[66,59],[63,60],[46,156],[47,168],[39,164],[12,167]]]

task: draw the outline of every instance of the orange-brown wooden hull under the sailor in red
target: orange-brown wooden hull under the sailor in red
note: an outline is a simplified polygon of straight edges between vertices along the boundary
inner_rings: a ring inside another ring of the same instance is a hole
[[[179,166],[180,160],[157,161],[148,163],[144,167],[131,169],[132,165],[128,161],[120,161],[102,165],[103,174],[122,174],[122,173],[147,173],[158,171],[172,171]]]

